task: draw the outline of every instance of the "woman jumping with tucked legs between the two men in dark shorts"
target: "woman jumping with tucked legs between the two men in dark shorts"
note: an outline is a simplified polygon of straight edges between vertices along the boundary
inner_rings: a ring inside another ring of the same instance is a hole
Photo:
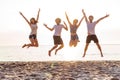
[[[70,26],[71,39],[70,39],[70,42],[69,42],[69,46],[70,47],[72,47],[72,46],[76,47],[77,43],[80,42],[79,37],[77,35],[77,29],[80,26],[81,22],[83,21],[84,17],[81,18],[79,23],[78,23],[78,19],[74,19],[73,24],[72,24],[69,20],[69,17],[67,15],[67,13],[65,13],[65,15],[66,15],[67,21],[68,21],[69,26]]]

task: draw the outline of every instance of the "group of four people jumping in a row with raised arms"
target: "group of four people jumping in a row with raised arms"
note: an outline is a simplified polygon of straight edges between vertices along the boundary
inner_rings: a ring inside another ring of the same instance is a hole
[[[84,9],[82,10],[83,13],[83,17],[81,18],[81,20],[78,22],[78,19],[74,19],[73,22],[70,22],[68,14],[65,12],[65,16],[66,19],[68,21],[69,24],[69,28],[70,28],[70,42],[69,42],[69,46],[72,47],[76,47],[78,42],[80,42],[78,34],[77,34],[77,30],[81,24],[81,22],[83,21],[83,19],[85,18],[86,24],[87,24],[87,31],[88,31],[88,36],[86,38],[86,45],[85,45],[85,49],[84,49],[84,54],[82,57],[85,57],[86,55],[86,51],[88,49],[89,43],[93,40],[94,43],[96,43],[98,49],[100,50],[101,53],[101,57],[103,57],[103,53],[102,53],[102,49],[101,46],[99,44],[99,40],[95,34],[95,26],[96,24],[103,20],[104,18],[108,17],[109,15],[106,14],[105,16],[99,18],[96,21],[93,21],[94,17],[92,15],[90,15],[88,18],[86,16],[86,13],[84,12]],[[40,9],[38,10],[38,14],[37,14],[37,18],[31,18],[30,21],[27,20],[27,18],[23,15],[22,12],[20,12],[20,15],[26,20],[26,22],[29,24],[31,32],[29,35],[29,40],[31,43],[29,44],[24,44],[22,46],[22,48],[24,47],[38,47],[38,40],[37,40],[37,23],[39,20],[39,14],[40,14]],[[43,24],[47,29],[49,29],[50,31],[54,30],[54,35],[53,35],[53,40],[54,40],[54,46],[48,51],[48,55],[51,56],[51,52],[53,50],[55,50],[55,55],[57,54],[58,50],[62,49],[64,47],[64,43],[63,40],[61,38],[61,32],[62,32],[62,28],[65,29],[66,31],[68,31],[68,26],[66,24],[65,21],[63,21],[64,24],[61,24],[61,19],[60,18],[56,18],[55,19],[56,24],[50,28],[47,26],[47,24]]]

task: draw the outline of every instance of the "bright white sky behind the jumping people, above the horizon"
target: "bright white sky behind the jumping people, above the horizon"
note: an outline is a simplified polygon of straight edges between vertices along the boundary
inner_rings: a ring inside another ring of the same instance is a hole
[[[29,43],[30,28],[19,11],[29,20],[31,17],[36,18],[39,8],[38,41],[40,45],[53,44],[54,32],[46,29],[43,23],[53,27],[57,17],[67,23],[65,11],[71,22],[73,19],[80,20],[83,16],[82,9],[87,16],[93,15],[94,20],[109,14],[108,18],[97,24],[96,34],[101,44],[120,44],[119,4],[120,0],[0,0],[0,45]],[[81,43],[84,44],[87,36],[85,20],[77,33]],[[69,31],[63,30],[62,38],[64,43],[68,44]]]

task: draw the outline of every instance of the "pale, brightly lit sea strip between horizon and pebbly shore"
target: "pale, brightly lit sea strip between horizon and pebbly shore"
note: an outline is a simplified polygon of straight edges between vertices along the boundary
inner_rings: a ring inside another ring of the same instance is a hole
[[[95,44],[90,44],[86,56],[82,58],[85,44],[77,47],[65,46],[58,51],[54,51],[51,57],[48,56],[48,50],[52,45],[40,45],[38,48],[21,48],[21,46],[0,46],[0,61],[90,61],[90,60],[120,60],[119,44],[102,44],[104,57]]]

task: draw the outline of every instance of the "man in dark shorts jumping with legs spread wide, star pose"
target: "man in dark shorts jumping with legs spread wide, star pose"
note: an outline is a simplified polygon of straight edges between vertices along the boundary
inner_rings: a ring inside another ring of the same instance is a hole
[[[94,17],[92,15],[89,16],[89,20],[88,20],[84,10],[82,10],[82,13],[85,17],[85,21],[86,21],[86,24],[87,24],[87,30],[88,30],[88,36],[87,36],[87,39],[86,39],[86,46],[85,46],[85,49],[84,49],[83,57],[85,57],[85,55],[86,55],[86,51],[88,49],[88,46],[89,46],[89,43],[91,42],[91,40],[93,40],[96,43],[98,49],[100,50],[101,57],[103,57],[101,46],[100,46],[98,38],[95,34],[95,26],[99,21],[103,20],[104,18],[108,17],[109,15],[107,14],[106,16],[101,17],[97,21],[93,22]]]

